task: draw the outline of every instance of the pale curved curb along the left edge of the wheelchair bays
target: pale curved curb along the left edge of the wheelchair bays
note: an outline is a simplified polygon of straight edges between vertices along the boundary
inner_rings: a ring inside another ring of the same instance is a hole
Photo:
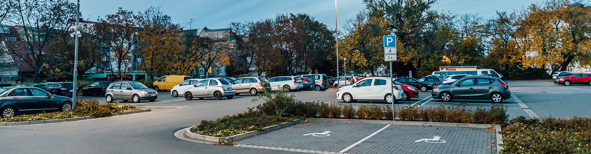
[[[193,140],[204,140],[206,142],[234,142],[236,140],[240,140],[240,139],[244,139],[246,137],[251,137],[251,136],[255,136],[257,134],[262,134],[262,133],[266,133],[268,131],[272,131],[272,130],[277,130],[277,129],[281,129],[283,127],[287,127],[287,126],[292,126],[294,124],[297,123],[301,123],[303,122],[303,119],[297,119],[294,121],[290,121],[290,122],[285,122],[285,123],[281,123],[281,124],[276,124],[273,126],[269,126],[269,127],[264,127],[262,129],[262,131],[259,130],[253,130],[253,131],[248,131],[246,133],[241,133],[241,134],[235,134],[233,136],[228,136],[228,137],[213,137],[213,136],[205,136],[202,134],[196,134],[191,132],[191,127],[186,128],[186,130],[184,131],[184,135],[189,138],[189,139],[193,139]]]

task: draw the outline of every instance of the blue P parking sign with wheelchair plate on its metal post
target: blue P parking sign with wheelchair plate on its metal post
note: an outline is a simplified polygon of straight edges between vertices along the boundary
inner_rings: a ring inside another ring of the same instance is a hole
[[[392,111],[394,111],[394,101],[396,100],[396,96],[394,96],[394,73],[392,73],[392,62],[398,60],[396,53],[396,36],[384,36],[384,60],[390,62],[390,83],[392,84],[392,87],[390,87],[390,95],[392,99]],[[394,112],[392,112],[392,117],[394,117]]]

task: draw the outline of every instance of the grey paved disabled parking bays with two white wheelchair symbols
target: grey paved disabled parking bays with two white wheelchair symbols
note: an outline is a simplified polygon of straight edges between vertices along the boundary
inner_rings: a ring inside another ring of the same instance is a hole
[[[235,144],[340,152],[384,124],[301,123],[239,140]],[[309,133],[326,134],[306,135]],[[345,153],[496,153],[493,131],[463,127],[391,125]],[[421,139],[434,139],[415,142]],[[492,144],[491,144],[492,143]]]

